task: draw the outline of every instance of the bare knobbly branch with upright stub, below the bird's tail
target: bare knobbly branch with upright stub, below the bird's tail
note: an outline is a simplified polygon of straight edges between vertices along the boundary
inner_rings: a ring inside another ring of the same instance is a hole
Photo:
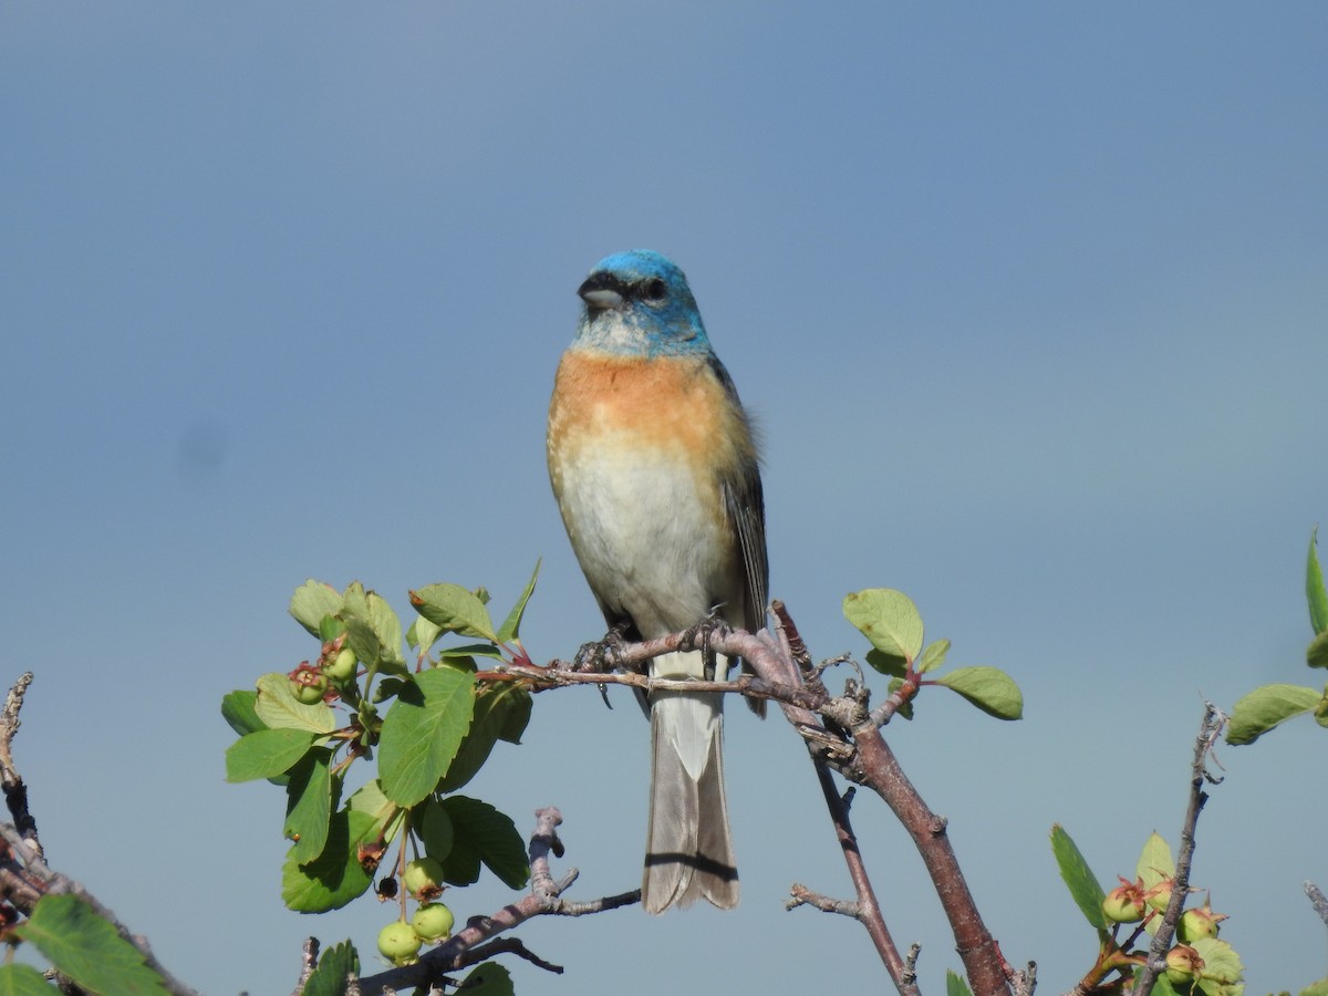
[[[606,896],[592,902],[570,903],[562,894],[576,880],[578,871],[571,869],[562,880],[555,882],[548,870],[548,855],[562,854],[562,842],[556,827],[563,822],[562,813],[554,806],[535,811],[535,831],[530,838],[530,892],[515,903],[505,906],[491,916],[474,916],[458,934],[418,961],[402,968],[360,980],[363,992],[382,992],[384,989],[408,989],[428,987],[444,980],[449,972],[485,961],[495,955],[515,954],[550,972],[562,972],[560,965],[544,961],[517,939],[491,940],[499,934],[519,927],[533,916],[582,916],[590,912],[616,910],[640,902],[640,891]]]

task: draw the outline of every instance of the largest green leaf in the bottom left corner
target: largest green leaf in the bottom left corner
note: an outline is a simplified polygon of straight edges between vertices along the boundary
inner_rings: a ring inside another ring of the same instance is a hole
[[[57,971],[89,992],[167,993],[162,977],[147,967],[142,952],[78,896],[42,896],[32,916],[13,932],[36,944]]]

